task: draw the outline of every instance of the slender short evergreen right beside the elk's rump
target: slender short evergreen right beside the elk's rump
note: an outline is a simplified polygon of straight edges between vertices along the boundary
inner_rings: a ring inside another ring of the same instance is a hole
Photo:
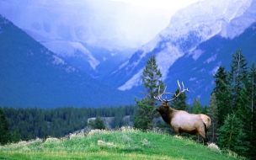
[[[210,136],[211,141],[216,141],[216,131],[218,129],[218,120],[219,120],[219,112],[218,112],[218,106],[216,104],[216,94],[211,93],[211,100],[209,104],[209,108],[207,109],[207,114],[211,118],[211,125],[210,125]]]

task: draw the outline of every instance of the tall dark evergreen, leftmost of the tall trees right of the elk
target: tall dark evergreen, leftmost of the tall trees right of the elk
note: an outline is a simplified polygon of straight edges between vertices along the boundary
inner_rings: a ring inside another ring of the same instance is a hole
[[[218,125],[224,124],[227,114],[232,113],[232,89],[230,87],[229,73],[225,72],[225,67],[219,67],[214,75],[216,87],[213,93],[216,94],[216,105],[218,108]]]

